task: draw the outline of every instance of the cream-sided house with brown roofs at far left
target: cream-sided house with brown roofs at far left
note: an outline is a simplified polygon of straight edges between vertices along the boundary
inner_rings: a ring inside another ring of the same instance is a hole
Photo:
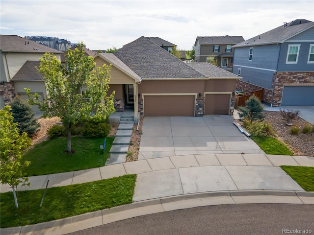
[[[43,76],[35,66],[46,52],[54,53],[60,60],[60,51],[46,47],[17,35],[0,35],[0,98],[1,108],[19,95],[26,100],[24,88],[31,93],[46,97]],[[32,106],[35,113],[40,113],[36,105]]]

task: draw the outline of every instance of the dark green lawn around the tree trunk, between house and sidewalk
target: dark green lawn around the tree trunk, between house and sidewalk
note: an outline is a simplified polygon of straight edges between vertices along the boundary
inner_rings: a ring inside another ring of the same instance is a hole
[[[114,137],[107,137],[105,152],[100,149],[104,138],[72,137],[73,154],[67,149],[65,137],[44,141],[29,149],[23,161],[30,161],[26,176],[46,175],[104,166]]]

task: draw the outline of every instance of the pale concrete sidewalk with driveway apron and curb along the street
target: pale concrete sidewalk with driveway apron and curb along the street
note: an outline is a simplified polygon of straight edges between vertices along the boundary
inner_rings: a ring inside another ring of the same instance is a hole
[[[80,184],[137,174],[134,203],[71,218],[1,229],[1,235],[67,234],[139,215],[234,203],[314,204],[279,165],[314,166],[314,157],[267,154],[200,154],[138,160],[99,168],[29,177],[19,190]],[[10,188],[1,185],[1,192]]]

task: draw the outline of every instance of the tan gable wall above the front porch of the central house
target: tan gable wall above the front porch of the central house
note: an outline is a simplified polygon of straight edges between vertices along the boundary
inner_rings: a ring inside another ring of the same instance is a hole
[[[109,65],[108,62],[106,62],[101,57],[96,57],[94,59],[97,67],[103,67],[104,64]],[[124,72],[120,71],[116,67],[112,66],[110,70],[110,76],[111,79],[109,81],[109,84],[131,84],[134,83],[134,79],[125,74]]]

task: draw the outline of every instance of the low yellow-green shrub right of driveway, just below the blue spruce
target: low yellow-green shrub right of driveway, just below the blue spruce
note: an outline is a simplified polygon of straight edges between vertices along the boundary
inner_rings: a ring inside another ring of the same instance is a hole
[[[267,137],[275,135],[270,123],[264,121],[244,121],[244,126],[252,136]]]

